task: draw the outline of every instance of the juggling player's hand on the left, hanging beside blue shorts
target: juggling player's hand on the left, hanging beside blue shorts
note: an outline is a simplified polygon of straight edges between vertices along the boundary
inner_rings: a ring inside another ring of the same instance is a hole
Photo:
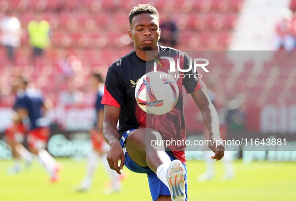
[[[110,150],[107,153],[107,160],[110,168],[121,174],[120,170],[123,169],[125,155],[119,141],[115,141],[110,145]],[[120,166],[118,166],[119,160]]]

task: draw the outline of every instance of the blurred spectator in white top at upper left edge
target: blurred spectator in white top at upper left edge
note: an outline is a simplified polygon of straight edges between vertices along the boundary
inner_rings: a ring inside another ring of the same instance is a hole
[[[7,48],[11,65],[15,64],[15,48],[20,46],[21,23],[19,19],[8,11],[0,22],[1,44]]]

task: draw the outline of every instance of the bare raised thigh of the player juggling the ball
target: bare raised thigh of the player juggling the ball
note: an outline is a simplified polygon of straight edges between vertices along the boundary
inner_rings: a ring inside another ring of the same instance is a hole
[[[151,140],[162,140],[158,131],[151,128],[138,128],[131,131],[125,141],[126,150],[131,159],[141,167],[148,167],[146,150]]]

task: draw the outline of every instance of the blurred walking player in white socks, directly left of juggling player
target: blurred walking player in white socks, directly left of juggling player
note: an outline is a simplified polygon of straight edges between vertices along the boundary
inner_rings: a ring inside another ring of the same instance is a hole
[[[104,94],[104,80],[100,73],[94,72],[90,79],[92,87],[97,90],[96,97],[96,121],[94,129],[90,130],[93,148],[89,154],[87,171],[85,178],[81,185],[76,187],[75,191],[87,191],[90,189],[94,177],[95,169],[97,167],[98,159],[100,158],[102,164],[110,174],[112,179],[111,189],[108,193],[119,191],[121,188],[121,178],[115,171],[109,168],[106,155],[110,149],[109,145],[103,137],[103,119],[104,119],[104,104],[101,103]]]

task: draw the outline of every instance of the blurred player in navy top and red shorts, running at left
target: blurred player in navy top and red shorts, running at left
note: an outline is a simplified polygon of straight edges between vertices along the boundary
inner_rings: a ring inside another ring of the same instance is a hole
[[[58,181],[58,171],[61,166],[45,150],[50,134],[49,121],[45,113],[52,107],[52,102],[46,99],[40,90],[27,88],[29,79],[21,77],[20,95],[16,101],[16,120],[20,121],[25,116],[30,119],[30,128],[27,139],[29,150],[38,156],[41,164],[46,168],[50,175],[51,182]]]

